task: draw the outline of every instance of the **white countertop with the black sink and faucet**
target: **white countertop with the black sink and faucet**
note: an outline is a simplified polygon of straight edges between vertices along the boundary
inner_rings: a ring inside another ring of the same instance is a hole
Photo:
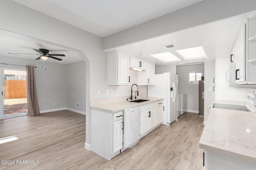
[[[136,102],[129,102],[129,101],[121,101],[121,102],[114,102],[114,103],[109,103],[109,104],[99,104],[99,105],[95,105],[95,106],[90,106],[90,108],[92,109],[100,109],[103,111],[107,111],[110,113],[115,113],[118,111],[122,111],[123,109],[128,109],[131,107],[136,107],[136,106],[141,106],[144,104],[149,104],[152,102],[157,102],[160,100],[164,100],[164,98],[151,98],[151,97],[147,97],[147,98],[140,98],[140,99],[144,99],[144,100],[149,100],[146,102],[140,102],[140,103],[136,103]]]

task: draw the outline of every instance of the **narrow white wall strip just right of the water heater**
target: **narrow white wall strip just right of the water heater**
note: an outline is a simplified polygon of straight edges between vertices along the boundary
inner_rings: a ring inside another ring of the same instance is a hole
[[[215,78],[215,61],[204,63],[204,121],[208,118],[208,106],[212,105],[215,100],[213,86],[216,85],[213,78]]]

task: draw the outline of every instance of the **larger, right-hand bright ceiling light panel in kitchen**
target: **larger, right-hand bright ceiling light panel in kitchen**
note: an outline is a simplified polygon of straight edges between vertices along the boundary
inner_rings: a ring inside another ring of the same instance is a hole
[[[198,58],[206,58],[206,53],[202,46],[194,47],[189,49],[177,50],[176,53],[181,55],[184,59],[198,59]]]

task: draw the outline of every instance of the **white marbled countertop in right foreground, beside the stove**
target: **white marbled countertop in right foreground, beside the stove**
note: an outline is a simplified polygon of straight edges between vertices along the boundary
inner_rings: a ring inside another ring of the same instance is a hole
[[[256,163],[256,113],[210,110],[199,148]]]

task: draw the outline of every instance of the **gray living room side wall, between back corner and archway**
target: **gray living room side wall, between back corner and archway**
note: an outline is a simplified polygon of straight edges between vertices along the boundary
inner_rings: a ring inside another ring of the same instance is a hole
[[[84,61],[66,65],[66,107],[83,112],[86,100],[85,71]]]

